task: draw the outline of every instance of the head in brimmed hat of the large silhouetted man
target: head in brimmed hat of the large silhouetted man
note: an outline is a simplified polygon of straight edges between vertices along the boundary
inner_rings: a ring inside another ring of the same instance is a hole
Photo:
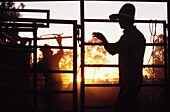
[[[126,28],[134,23],[135,6],[130,3],[124,4],[118,14],[111,14],[109,18],[110,20],[119,20],[121,28]]]

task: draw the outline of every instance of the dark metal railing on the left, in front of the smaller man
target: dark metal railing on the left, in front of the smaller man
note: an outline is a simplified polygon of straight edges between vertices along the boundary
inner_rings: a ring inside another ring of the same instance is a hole
[[[30,53],[33,54],[33,66],[37,63],[37,49],[42,48],[44,46],[38,46],[37,41],[40,40],[40,38],[37,37],[37,30],[38,28],[48,28],[49,24],[70,24],[73,28],[73,46],[50,46],[50,48],[53,49],[71,49],[73,50],[73,70],[42,70],[37,71],[32,68],[29,68],[27,70],[12,70],[11,72],[14,73],[29,73],[33,74],[32,77],[32,87],[28,90],[23,90],[23,94],[31,94],[32,95],[32,101],[33,101],[33,110],[35,112],[38,112],[37,105],[40,103],[38,102],[38,96],[39,95],[45,95],[45,94],[71,94],[72,95],[72,107],[73,112],[77,112],[77,21],[76,20],[56,20],[56,19],[49,19],[49,10],[33,10],[33,9],[16,9],[16,10],[1,10],[1,11],[15,11],[15,12],[39,12],[39,13],[46,13],[47,18],[46,19],[36,19],[36,18],[0,18],[0,31],[13,31],[13,32],[32,32],[33,38],[26,38],[27,40],[33,42],[33,44],[29,44],[29,46],[18,46],[18,45],[0,45],[1,48],[23,48],[24,50],[20,51],[23,54],[28,53],[28,50]],[[10,22],[8,22],[10,21]],[[70,38],[70,37],[69,37]],[[25,38],[20,38],[25,39]],[[34,68],[34,67],[33,67]],[[10,69],[7,71],[6,69],[2,71],[3,73],[10,72]],[[73,89],[72,90],[61,90],[61,91],[51,91],[51,92],[45,92],[44,90],[38,90],[37,83],[38,83],[38,73],[71,73],[73,75]],[[15,90],[15,88],[14,88]],[[22,90],[21,90],[22,91]],[[13,91],[14,92],[14,91]],[[15,91],[13,94],[19,94],[17,91]],[[70,110],[69,110],[70,111]]]

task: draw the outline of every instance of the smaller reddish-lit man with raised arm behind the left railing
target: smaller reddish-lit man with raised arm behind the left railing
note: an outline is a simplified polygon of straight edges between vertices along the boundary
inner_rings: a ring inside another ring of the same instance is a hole
[[[61,37],[57,38],[59,46],[62,46]],[[44,48],[46,47],[46,48]],[[59,62],[63,55],[63,49],[59,49],[56,54],[48,44],[45,44],[40,51],[43,53],[43,58],[35,66],[37,70],[59,70]],[[54,93],[49,93],[49,91],[61,90],[62,89],[62,79],[60,73],[43,73],[45,77],[45,90],[47,91],[45,97],[46,111],[56,111],[56,108],[60,108],[60,97]]]

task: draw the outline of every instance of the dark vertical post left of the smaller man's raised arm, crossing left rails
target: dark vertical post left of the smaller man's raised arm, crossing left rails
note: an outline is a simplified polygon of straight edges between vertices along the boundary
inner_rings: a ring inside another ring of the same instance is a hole
[[[36,22],[33,22],[33,66],[37,63],[37,27]],[[37,112],[37,72],[33,67],[33,108]]]

